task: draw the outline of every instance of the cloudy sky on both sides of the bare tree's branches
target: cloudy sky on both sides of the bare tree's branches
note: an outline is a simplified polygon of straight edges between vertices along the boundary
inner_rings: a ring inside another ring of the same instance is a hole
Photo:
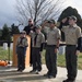
[[[82,0],[67,0],[66,8],[68,5],[75,8],[82,15]],[[15,0],[0,0],[0,28],[4,23],[9,26],[11,26],[12,23],[17,25],[19,22],[16,21],[15,15]]]

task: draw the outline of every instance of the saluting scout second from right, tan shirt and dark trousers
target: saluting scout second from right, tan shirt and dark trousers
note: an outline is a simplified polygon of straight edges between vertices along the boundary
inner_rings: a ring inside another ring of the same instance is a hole
[[[44,74],[44,77],[51,79],[56,78],[57,75],[57,50],[59,48],[61,33],[59,28],[56,27],[55,20],[50,20],[48,23],[50,25],[50,28],[47,33],[47,47],[45,56],[48,72]]]

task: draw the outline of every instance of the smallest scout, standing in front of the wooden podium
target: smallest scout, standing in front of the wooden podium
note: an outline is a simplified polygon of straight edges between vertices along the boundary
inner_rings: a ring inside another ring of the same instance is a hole
[[[17,71],[23,71],[25,69],[25,54],[28,46],[26,32],[22,31],[21,36],[16,42],[16,54],[17,54]]]

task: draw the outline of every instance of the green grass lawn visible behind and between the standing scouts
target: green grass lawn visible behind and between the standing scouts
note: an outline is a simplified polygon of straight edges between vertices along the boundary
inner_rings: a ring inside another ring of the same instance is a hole
[[[12,51],[10,51],[10,59],[12,60]],[[2,47],[0,47],[0,60],[9,60],[9,50],[3,50]],[[42,54],[42,61],[45,63],[45,50]],[[66,67],[65,55],[58,55],[57,65]],[[82,70],[82,52],[78,56],[78,67]]]

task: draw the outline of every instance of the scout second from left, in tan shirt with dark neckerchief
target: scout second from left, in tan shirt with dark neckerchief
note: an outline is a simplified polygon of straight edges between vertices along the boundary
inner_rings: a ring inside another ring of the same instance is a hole
[[[45,36],[40,32],[42,27],[38,25],[36,26],[36,32],[31,32],[32,37],[32,61],[33,61],[33,70],[30,72],[38,72],[42,70],[42,57],[40,54],[43,51],[43,46],[45,43]]]

